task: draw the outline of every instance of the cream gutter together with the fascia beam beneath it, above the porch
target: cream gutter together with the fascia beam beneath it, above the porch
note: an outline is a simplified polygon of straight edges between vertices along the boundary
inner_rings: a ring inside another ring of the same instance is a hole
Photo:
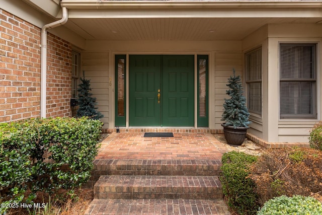
[[[81,1],[62,0],[70,18],[322,17],[320,1]]]

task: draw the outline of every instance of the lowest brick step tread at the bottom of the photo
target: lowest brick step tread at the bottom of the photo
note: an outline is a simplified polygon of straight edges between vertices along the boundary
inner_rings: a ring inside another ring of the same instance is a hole
[[[85,215],[98,214],[229,215],[230,212],[220,199],[94,199]]]

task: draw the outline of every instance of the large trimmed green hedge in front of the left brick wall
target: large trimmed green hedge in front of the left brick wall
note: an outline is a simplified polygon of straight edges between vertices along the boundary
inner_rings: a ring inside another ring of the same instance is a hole
[[[87,117],[0,124],[0,202],[30,202],[37,191],[72,193],[91,176],[102,124]]]

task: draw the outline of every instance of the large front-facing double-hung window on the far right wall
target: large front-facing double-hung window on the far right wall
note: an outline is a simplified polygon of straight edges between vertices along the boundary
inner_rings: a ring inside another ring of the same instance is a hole
[[[316,119],[316,44],[280,44],[280,118]]]

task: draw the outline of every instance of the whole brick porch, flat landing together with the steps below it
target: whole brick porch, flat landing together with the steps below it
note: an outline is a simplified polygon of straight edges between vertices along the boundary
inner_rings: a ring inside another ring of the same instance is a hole
[[[230,214],[218,178],[226,147],[213,134],[143,135],[113,132],[101,142],[86,215]]]

